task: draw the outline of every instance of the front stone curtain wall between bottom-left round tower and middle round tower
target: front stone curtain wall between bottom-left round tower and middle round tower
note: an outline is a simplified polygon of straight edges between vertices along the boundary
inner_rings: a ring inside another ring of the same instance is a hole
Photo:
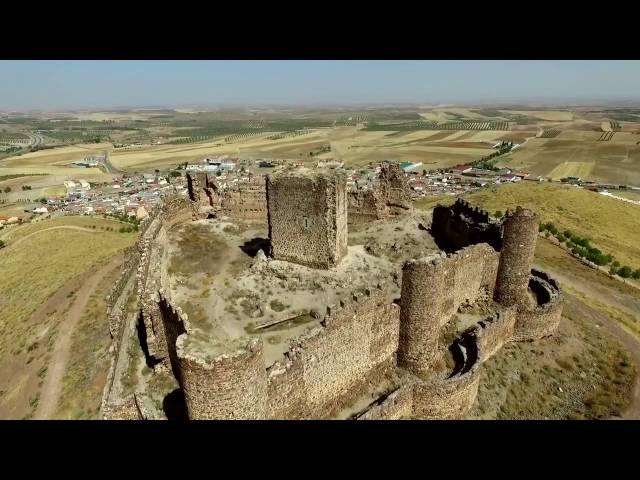
[[[355,294],[329,308],[322,326],[300,337],[268,369],[271,418],[321,418],[395,364],[398,306],[385,288]]]

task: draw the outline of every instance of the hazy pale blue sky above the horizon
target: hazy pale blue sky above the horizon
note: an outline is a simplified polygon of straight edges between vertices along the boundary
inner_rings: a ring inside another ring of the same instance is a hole
[[[0,110],[640,99],[640,61],[0,61]]]

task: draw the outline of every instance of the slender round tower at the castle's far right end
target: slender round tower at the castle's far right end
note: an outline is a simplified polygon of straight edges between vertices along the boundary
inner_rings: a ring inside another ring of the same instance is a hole
[[[506,215],[494,293],[495,301],[501,305],[527,304],[538,225],[538,215],[527,208],[517,207]]]

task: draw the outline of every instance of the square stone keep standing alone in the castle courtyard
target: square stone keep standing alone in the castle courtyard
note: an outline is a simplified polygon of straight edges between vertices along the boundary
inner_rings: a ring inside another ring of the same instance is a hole
[[[347,181],[339,173],[267,177],[271,255],[328,269],[347,253]]]

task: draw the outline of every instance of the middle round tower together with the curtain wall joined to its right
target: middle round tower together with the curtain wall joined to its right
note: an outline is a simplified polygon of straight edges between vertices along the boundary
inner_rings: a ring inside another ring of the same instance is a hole
[[[401,366],[418,375],[431,369],[440,328],[461,305],[473,303],[481,290],[491,296],[497,265],[498,253],[487,244],[404,264],[398,348]]]

